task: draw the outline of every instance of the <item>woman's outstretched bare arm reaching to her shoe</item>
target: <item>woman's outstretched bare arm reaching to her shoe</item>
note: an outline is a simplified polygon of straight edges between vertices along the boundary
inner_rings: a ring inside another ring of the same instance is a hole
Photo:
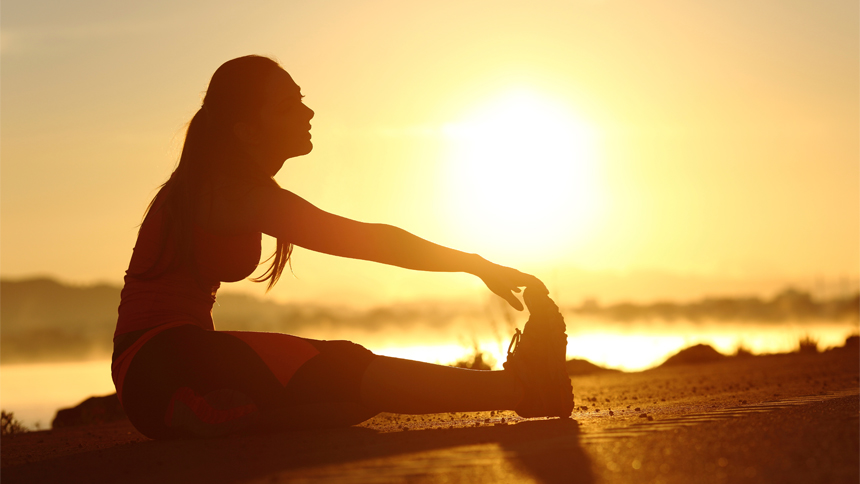
[[[249,195],[247,223],[256,230],[289,240],[316,252],[380,262],[407,269],[467,272],[511,306],[522,310],[513,295],[520,287],[545,287],[536,277],[424,240],[403,229],[341,217],[317,208],[280,188],[255,189]]]

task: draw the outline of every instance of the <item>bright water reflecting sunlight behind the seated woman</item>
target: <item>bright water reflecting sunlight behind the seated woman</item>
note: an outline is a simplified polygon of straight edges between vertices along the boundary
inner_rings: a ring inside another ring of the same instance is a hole
[[[505,360],[510,334],[470,330],[468,337],[448,328],[430,331],[390,328],[384,333],[355,328],[302,336],[351,339],[377,354],[429,363],[449,364],[468,358],[474,347],[490,355],[495,368]],[[858,333],[856,321],[797,323],[668,322],[618,323],[569,319],[568,358],[582,358],[600,366],[626,371],[654,367],[683,348],[704,343],[724,354],[739,347],[755,354],[795,351],[800,339],[810,337],[818,349],[841,346]],[[486,359],[485,359],[486,361]],[[56,411],[93,395],[114,392],[110,359],[75,363],[38,363],[0,366],[0,407],[12,411],[29,428],[49,428]]]

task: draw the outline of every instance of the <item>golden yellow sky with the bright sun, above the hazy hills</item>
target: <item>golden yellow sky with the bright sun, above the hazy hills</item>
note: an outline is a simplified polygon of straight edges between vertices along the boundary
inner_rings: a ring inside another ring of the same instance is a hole
[[[4,0],[0,276],[120,283],[210,76],[254,53],[316,112],[314,151],[286,163],[283,187],[533,273],[557,300],[856,281],[858,10]],[[293,273],[269,296],[486,296],[468,275],[300,249]]]

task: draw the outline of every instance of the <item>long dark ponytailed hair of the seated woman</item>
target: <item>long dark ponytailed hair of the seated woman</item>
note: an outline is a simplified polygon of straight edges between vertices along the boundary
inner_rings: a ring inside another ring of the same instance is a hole
[[[225,62],[212,75],[203,104],[188,123],[179,163],[144,214],[148,216],[158,206],[164,230],[159,261],[139,276],[155,277],[185,264],[196,271],[193,226],[203,187],[218,174],[242,170],[242,152],[233,126],[259,112],[265,102],[265,82],[281,69],[268,57],[249,55]],[[261,179],[261,183],[277,184],[271,177]],[[167,250],[168,244],[174,246],[173,250]],[[271,266],[262,276],[251,280],[269,281],[266,290],[271,289],[281,277],[292,249],[291,243],[279,238],[275,252],[267,259],[272,260]],[[170,260],[163,261],[166,257]]]

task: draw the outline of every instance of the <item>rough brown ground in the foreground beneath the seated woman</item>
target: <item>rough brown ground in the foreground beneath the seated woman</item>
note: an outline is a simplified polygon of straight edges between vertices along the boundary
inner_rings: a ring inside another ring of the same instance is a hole
[[[382,414],[361,426],[153,441],[127,421],[3,437],[5,483],[860,481],[860,356],[724,358],[572,377],[574,420]]]

